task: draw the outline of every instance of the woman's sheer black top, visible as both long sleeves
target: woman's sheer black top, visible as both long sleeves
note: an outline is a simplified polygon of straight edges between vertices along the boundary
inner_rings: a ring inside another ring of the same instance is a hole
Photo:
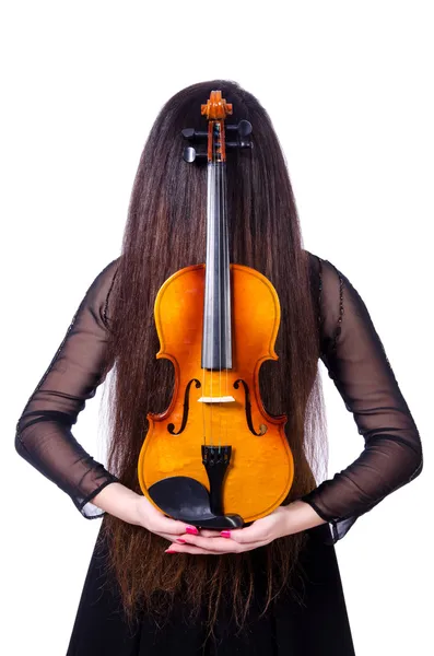
[[[302,497],[329,523],[336,542],[360,515],[421,472],[422,446],[362,297],[330,261],[309,258],[320,359],[365,441],[354,462]],[[87,518],[104,514],[91,500],[118,479],[83,449],[71,427],[104,380],[109,294],[119,260],[92,282],[16,425],[17,453]]]

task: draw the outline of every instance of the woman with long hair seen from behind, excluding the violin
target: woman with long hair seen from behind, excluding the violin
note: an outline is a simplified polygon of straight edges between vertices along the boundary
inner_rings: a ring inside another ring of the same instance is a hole
[[[207,172],[183,161],[180,132],[203,129],[199,109],[212,90],[233,104],[231,122],[254,126],[253,151],[227,159],[231,261],[261,271],[280,297],[279,362],[262,365],[261,397],[269,412],[288,414],[295,462],[282,506],[223,534],[160,513],[137,476],[146,413],[163,411],[173,391],[171,363],[155,359],[155,295],[172,273],[204,260]],[[319,359],[365,447],[317,485],[326,466]],[[112,368],[105,468],[71,426]],[[333,544],[420,473],[420,436],[363,300],[330,261],[303,248],[270,118],[238,84],[193,84],[161,110],[121,255],[84,295],[19,420],[16,449],[84,517],[104,515],[68,656],[354,654]]]

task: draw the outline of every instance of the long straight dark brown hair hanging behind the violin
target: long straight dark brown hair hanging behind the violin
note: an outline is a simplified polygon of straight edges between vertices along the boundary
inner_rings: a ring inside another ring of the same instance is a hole
[[[174,388],[171,362],[156,360],[159,340],[153,304],[162,283],[176,270],[204,261],[206,166],[181,159],[181,129],[204,129],[200,105],[219,89],[233,103],[231,122],[253,124],[255,148],[227,159],[231,261],[258,269],[274,284],[281,302],[275,344],[278,362],[266,362],[260,389],[267,410],[288,414],[288,440],[295,479],[286,503],[310,491],[325,462],[327,443],[318,375],[318,320],[308,253],[286,163],[270,117],[258,99],[227,80],[192,84],[161,109],[143,148],[136,175],[115,284],[110,293],[110,447],[108,467],[140,493],[137,464],[146,433],[146,413],[162,412]],[[208,607],[212,628],[225,590],[243,625],[254,589],[253,552],[167,557],[166,540],[107,515],[103,534],[128,618],[138,609],[167,616],[183,593],[195,613]],[[263,548],[267,604],[291,586],[305,534],[280,538]],[[227,585],[230,583],[230,585]]]

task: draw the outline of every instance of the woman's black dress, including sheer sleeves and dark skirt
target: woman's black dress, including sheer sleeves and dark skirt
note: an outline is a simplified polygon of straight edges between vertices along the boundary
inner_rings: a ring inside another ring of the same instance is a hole
[[[67,656],[354,655],[333,544],[357,517],[420,473],[422,446],[363,300],[330,261],[308,255],[320,358],[365,446],[354,462],[302,497],[327,524],[306,531],[297,600],[282,595],[265,617],[258,617],[266,582],[263,552],[257,549],[256,602],[243,635],[235,635],[223,609],[215,639],[203,646],[201,622],[185,621],[181,602],[163,630],[148,617],[129,628],[116,582],[105,571],[106,546],[99,539]],[[117,478],[81,447],[71,427],[104,380],[107,308],[118,262],[119,258],[112,261],[92,282],[16,425],[19,454],[67,492],[87,518],[103,515],[92,499]]]

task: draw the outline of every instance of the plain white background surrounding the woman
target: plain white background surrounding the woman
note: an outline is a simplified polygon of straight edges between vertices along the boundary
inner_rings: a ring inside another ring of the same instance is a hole
[[[337,546],[356,654],[432,654],[432,7],[3,2],[3,654],[64,654],[99,527],[19,458],[16,421],[83,293],[120,251],[157,112],[214,78],[270,113],[305,247],[362,294],[423,441],[423,473]],[[363,441],[321,370],[332,476]],[[74,431],[96,457],[101,391]]]

